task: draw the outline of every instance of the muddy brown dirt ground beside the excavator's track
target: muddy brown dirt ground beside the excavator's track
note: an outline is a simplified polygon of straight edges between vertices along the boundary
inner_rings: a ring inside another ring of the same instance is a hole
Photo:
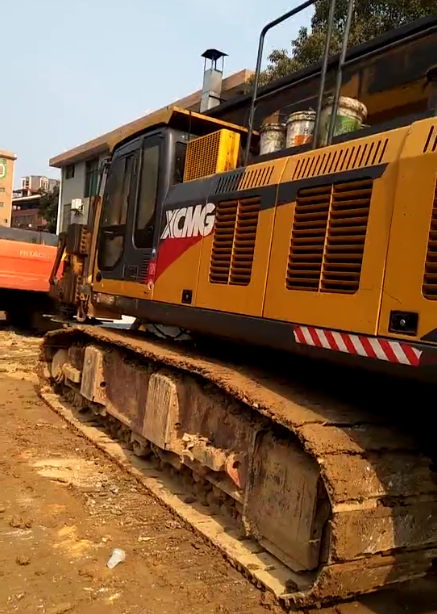
[[[280,612],[39,399],[38,346],[0,330],[0,614]],[[126,560],[109,570],[113,548]],[[329,612],[435,614],[436,601],[431,579]]]

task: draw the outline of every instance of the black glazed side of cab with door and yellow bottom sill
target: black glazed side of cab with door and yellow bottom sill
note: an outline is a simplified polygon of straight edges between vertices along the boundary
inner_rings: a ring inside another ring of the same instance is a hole
[[[161,134],[154,134],[113,159],[100,220],[98,292],[151,298],[147,280],[159,230],[162,148]]]

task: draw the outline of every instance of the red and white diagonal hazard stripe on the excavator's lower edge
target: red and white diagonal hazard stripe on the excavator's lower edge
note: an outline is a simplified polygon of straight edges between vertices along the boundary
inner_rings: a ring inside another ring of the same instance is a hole
[[[367,358],[386,360],[401,365],[410,365],[411,367],[419,366],[422,354],[421,350],[408,343],[390,341],[389,339],[381,339],[379,337],[339,333],[311,326],[295,326],[294,338],[296,343],[312,345],[326,350],[335,350],[346,354],[367,356]]]

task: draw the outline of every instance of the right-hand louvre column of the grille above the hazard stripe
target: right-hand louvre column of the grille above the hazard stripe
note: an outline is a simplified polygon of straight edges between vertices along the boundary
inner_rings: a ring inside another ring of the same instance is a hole
[[[333,186],[322,292],[351,294],[359,288],[372,187],[371,179]]]

